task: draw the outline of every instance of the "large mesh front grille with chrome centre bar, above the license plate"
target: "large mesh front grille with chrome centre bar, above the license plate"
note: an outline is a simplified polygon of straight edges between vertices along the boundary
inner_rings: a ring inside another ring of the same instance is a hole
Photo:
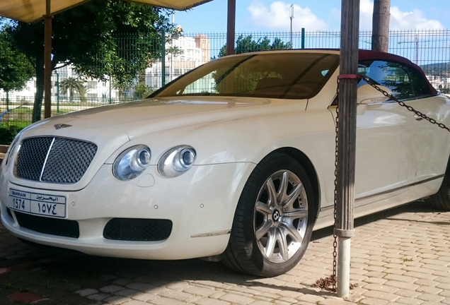
[[[55,184],[78,182],[91,164],[97,145],[82,140],[37,137],[23,140],[16,176]]]

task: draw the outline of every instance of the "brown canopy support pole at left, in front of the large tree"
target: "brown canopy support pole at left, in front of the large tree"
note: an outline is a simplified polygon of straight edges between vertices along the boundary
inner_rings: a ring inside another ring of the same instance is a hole
[[[44,118],[52,114],[52,15],[50,10],[51,0],[45,1],[45,44],[44,44]]]

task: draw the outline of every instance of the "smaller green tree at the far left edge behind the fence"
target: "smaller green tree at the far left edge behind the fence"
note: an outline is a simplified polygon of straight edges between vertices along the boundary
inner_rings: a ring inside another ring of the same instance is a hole
[[[0,89],[6,92],[7,102],[8,93],[23,89],[33,74],[28,58],[11,42],[6,29],[0,29]]]

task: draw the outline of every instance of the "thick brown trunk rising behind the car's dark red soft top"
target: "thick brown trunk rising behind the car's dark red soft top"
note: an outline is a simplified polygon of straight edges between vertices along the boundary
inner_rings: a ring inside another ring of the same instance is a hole
[[[388,52],[391,0],[374,0],[372,17],[372,50]]]

